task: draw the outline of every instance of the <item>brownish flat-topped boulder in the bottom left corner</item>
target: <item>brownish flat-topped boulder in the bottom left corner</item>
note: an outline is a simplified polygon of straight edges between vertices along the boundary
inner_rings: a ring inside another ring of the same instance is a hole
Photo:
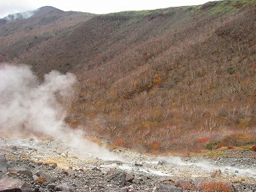
[[[0,180],[0,192],[32,192],[31,187],[24,181],[14,178]]]

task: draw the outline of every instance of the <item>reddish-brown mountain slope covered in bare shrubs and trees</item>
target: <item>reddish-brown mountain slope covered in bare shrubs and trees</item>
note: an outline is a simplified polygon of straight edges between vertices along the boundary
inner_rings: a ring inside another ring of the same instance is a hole
[[[253,142],[255,5],[41,11],[1,26],[0,58],[32,65],[40,77],[75,73],[79,94],[67,122],[115,145],[190,151],[229,145],[230,134]]]

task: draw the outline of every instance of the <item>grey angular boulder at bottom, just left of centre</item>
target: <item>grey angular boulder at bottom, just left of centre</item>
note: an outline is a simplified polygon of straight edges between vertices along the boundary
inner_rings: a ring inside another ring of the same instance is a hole
[[[114,181],[114,183],[124,186],[126,181],[126,172],[120,169],[110,169],[105,175],[105,181]]]

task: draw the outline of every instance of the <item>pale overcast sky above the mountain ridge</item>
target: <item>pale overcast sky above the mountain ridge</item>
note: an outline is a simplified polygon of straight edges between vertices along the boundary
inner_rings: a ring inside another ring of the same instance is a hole
[[[8,14],[53,6],[62,11],[83,11],[107,14],[119,11],[137,11],[169,8],[183,5],[201,5],[210,0],[0,0],[0,18]]]

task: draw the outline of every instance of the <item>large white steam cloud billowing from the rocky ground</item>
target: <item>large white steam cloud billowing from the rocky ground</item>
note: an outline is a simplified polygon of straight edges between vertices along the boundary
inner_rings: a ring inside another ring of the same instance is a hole
[[[29,66],[0,65],[0,131],[41,133],[97,157],[116,158],[65,123],[61,102],[71,100],[75,82],[75,75],[53,71],[40,83]]]

